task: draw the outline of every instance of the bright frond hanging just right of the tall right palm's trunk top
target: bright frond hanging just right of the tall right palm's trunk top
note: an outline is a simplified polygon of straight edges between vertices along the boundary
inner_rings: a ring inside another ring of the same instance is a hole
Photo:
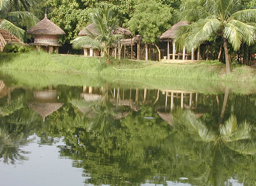
[[[240,28],[231,24],[231,22],[228,22],[225,24],[223,35],[227,38],[235,51],[239,50],[244,36],[243,31],[240,30]]]

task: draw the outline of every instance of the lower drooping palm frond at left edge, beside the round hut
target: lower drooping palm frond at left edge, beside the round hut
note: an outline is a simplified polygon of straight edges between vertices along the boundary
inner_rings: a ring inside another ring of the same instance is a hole
[[[12,24],[12,22],[3,19],[0,23],[0,29],[5,29],[9,32],[11,32],[13,35],[15,35],[20,40],[24,41],[25,38],[25,30],[20,29],[19,27]]]

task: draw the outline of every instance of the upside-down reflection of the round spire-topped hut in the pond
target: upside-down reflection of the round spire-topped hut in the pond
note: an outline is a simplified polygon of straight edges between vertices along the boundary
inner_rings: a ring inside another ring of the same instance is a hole
[[[52,112],[58,110],[63,103],[57,103],[56,90],[33,91],[34,102],[29,102],[28,106],[41,115],[43,121]]]

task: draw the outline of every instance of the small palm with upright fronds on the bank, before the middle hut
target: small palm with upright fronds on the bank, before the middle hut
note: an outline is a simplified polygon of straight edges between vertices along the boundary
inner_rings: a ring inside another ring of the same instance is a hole
[[[122,35],[113,34],[113,31],[118,25],[118,19],[113,15],[113,11],[108,4],[104,5],[103,13],[99,9],[95,9],[91,13],[91,20],[95,26],[95,29],[99,33],[98,36],[94,35],[88,29],[90,36],[81,36],[74,39],[71,43],[73,48],[80,49],[84,45],[93,46],[100,51],[103,51],[106,62],[110,64],[110,47]]]

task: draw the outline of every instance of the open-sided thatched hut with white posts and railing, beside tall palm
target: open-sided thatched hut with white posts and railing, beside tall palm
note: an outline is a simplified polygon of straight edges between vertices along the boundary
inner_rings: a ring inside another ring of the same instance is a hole
[[[194,60],[195,59],[195,55],[194,55],[194,50],[191,51],[191,54],[187,54],[186,53],[186,49],[185,47],[183,48],[182,53],[177,53],[176,51],[176,46],[175,46],[175,42],[174,39],[176,38],[177,32],[179,31],[179,29],[182,26],[187,26],[189,25],[189,22],[187,21],[179,21],[177,24],[175,24],[174,26],[172,26],[170,29],[166,30],[160,37],[160,41],[167,41],[167,59],[182,59],[182,60],[187,60],[187,59],[191,59]],[[170,54],[170,46],[169,46],[169,41],[173,42],[173,53]],[[198,57],[197,60],[199,60],[199,54],[200,53],[200,48],[198,50]],[[182,58],[181,58],[182,57]]]

